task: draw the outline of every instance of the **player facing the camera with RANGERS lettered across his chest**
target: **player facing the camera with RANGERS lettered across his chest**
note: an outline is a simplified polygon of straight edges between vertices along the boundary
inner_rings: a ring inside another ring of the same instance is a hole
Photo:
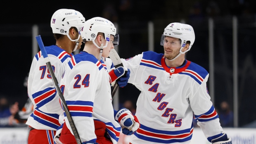
[[[209,142],[232,144],[210,101],[209,73],[185,59],[194,40],[192,26],[171,23],[161,37],[164,54],[147,51],[121,59],[130,69],[128,83],[141,91],[136,109],[140,128],[130,137],[130,144],[189,144],[193,117]]]

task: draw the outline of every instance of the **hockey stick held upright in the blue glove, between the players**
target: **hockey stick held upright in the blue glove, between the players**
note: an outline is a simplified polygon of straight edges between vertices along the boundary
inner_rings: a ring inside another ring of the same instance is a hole
[[[119,55],[117,54],[115,49],[111,49],[110,53],[109,53],[109,58],[111,59],[111,61],[113,62],[115,68],[119,67],[119,66],[123,66],[123,63],[119,57]],[[124,73],[124,75],[126,75],[127,71]],[[116,90],[118,88],[118,84],[117,82],[115,83],[114,87],[112,88],[112,92],[111,92],[111,96],[112,99],[114,98],[115,94],[116,94]]]

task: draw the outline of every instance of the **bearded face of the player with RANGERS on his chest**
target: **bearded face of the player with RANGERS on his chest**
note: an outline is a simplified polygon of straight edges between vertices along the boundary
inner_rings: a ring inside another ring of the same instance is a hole
[[[179,53],[181,48],[180,39],[165,36],[164,38],[164,57],[166,59],[174,59]]]

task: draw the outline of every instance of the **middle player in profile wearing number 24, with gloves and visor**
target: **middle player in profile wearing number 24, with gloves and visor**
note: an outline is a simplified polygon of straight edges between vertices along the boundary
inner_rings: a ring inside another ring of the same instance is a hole
[[[130,70],[120,66],[107,71],[102,60],[119,44],[119,35],[114,24],[101,17],[87,20],[81,35],[85,47],[68,62],[60,83],[62,92],[83,144],[117,144],[121,126],[126,135],[139,128],[137,118],[128,109],[115,111],[112,106],[110,83],[120,78],[117,83],[125,86]],[[61,116],[63,124],[57,130],[55,142],[76,144],[65,113]]]

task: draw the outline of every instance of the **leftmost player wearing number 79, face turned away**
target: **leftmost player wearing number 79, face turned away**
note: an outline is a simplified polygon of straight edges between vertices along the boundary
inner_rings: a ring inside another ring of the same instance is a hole
[[[81,48],[80,31],[84,22],[83,15],[74,9],[59,9],[52,15],[50,25],[56,44],[45,49],[58,82],[73,55],[72,52]],[[41,52],[35,55],[31,64],[28,96],[34,105],[34,111],[26,122],[31,127],[28,144],[53,144],[54,135],[60,126],[59,114],[63,110]]]

